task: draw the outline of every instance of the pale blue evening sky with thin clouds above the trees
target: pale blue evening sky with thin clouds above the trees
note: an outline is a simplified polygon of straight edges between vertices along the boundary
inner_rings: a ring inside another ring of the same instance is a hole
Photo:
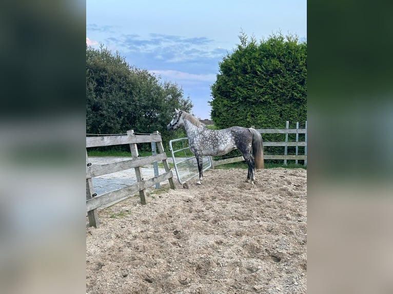
[[[192,112],[210,118],[219,62],[239,44],[281,31],[307,39],[307,1],[86,0],[86,42],[100,44],[163,81],[177,83]]]

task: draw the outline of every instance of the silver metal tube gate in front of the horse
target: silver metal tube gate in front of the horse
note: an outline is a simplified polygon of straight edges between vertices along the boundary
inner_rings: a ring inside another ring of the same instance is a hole
[[[179,183],[184,184],[194,177],[199,177],[197,158],[190,151],[188,138],[170,140],[169,150]],[[210,169],[211,166],[211,157],[203,156],[203,171]]]

